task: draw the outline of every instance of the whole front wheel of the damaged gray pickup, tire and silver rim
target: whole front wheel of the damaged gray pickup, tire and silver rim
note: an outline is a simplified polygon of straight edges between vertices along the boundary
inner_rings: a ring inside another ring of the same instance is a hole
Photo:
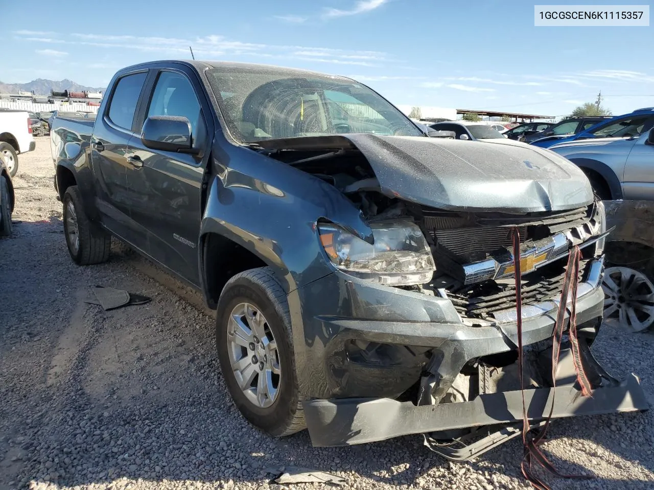
[[[284,290],[268,267],[246,270],[224,287],[216,346],[241,414],[272,436],[305,428]]]

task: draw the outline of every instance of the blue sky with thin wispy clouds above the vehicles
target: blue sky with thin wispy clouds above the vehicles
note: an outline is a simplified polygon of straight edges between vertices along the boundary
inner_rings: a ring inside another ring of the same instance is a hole
[[[6,83],[105,86],[126,65],[187,59],[190,44],[197,59],[352,76],[396,105],[560,116],[602,90],[613,114],[654,106],[654,27],[534,27],[543,1],[114,0],[55,13],[32,0],[29,11],[49,12],[35,16],[2,3]]]

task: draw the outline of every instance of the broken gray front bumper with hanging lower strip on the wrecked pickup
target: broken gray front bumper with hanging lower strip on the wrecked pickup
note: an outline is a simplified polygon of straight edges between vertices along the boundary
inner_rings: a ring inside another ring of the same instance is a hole
[[[586,347],[592,344],[602,318],[602,267],[601,257],[591,261],[577,289],[577,329]],[[515,387],[515,376],[513,383],[511,376],[507,376],[504,381],[494,382],[490,389],[482,389],[481,374],[477,374],[475,379],[466,378],[466,383],[475,385],[470,396],[463,400],[450,396],[455,380],[464,370],[478,368],[481,372],[481,367],[489,368],[483,364],[485,359],[515,353],[515,309],[496,315],[498,321],[494,324],[466,325],[445,299],[370,285],[338,273],[298,292],[298,301],[303,293],[320,293],[322,297],[318,306],[313,303],[309,308],[311,302],[304,303],[305,338],[294,339],[296,346],[300,340],[310,346],[298,355],[296,366],[305,399],[305,420],[314,446],[362,444],[419,433],[438,436],[444,431],[471,427],[500,427],[502,431],[503,427],[515,429],[521,423],[522,398]],[[312,314],[330,305],[337,306],[335,310],[342,314]],[[542,361],[542,372],[549,368],[551,373],[551,364],[547,366],[548,355],[551,359],[547,342],[551,345],[558,306],[558,299],[523,306],[523,344],[534,352],[540,350],[534,355],[541,356],[538,359]],[[377,348],[376,357],[356,351],[360,346],[366,353],[370,349],[366,351],[364,346],[372,343],[386,348]],[[525,402],[531,421],[545,419],[553,402],[554,418],[649,408],[636,376],[632,374],[617,382],[606,375],[608,378],[602,381],[604,370],[588,349],[586,352],[589,359],[585,367],[594,380],[593,396],[582,397],[577,390],[569,349],[563,346],[556,388],[551,388],[551,379],[541,376],[540,382],[535,382],[538,376],[527,377],[531,385],[525,389]],[[509,360],[507,365],[511,364]],[[426,381],[426,374],[432,376],[430,399],[425,401],[416,395],[420,393],[419,380]],[[500,439],[517,433],[513,430]],[[489,437],[484,450],[498,444],[496,435]],[[461,454],[475,455],[472,450],[464,450],[451,459],[467,459]]]

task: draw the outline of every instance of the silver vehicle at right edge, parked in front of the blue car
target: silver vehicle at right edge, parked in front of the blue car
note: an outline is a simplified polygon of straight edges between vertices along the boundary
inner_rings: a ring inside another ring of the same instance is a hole
[[[654,128],[651,122],[623,137],[559,143],[549,149],[588,176],[602,200],[654,201]]]

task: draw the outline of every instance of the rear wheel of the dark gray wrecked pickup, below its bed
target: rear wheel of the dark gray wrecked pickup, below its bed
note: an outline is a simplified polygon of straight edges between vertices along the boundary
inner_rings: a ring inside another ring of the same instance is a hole
[[[70,186],[63,195],[63,231],[68,253],[77,265],[109,259],[111,235],[88,219],[77,186]]]

